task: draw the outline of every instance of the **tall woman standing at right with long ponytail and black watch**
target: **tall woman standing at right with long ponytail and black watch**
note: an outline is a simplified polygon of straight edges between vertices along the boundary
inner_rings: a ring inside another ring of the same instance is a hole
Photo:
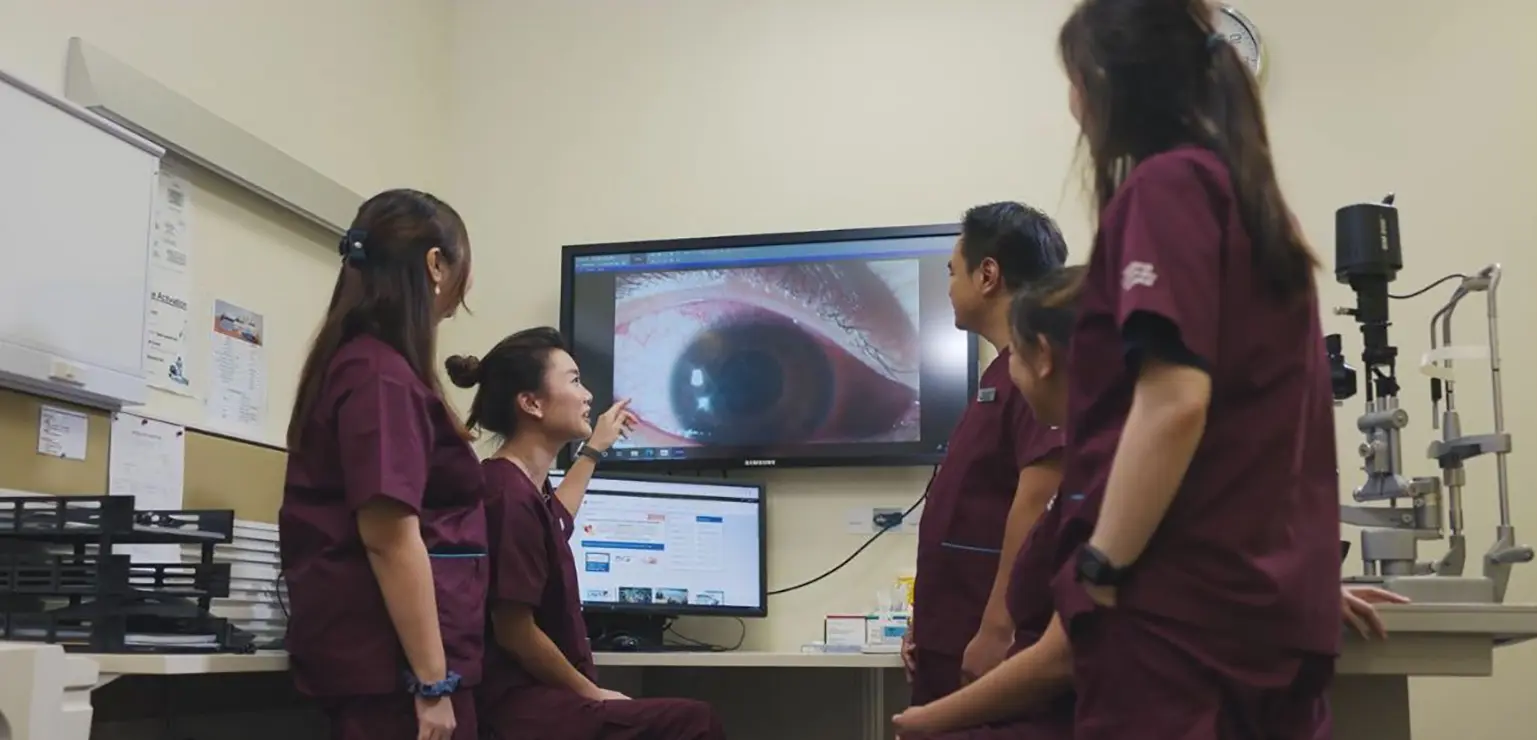
[[[1053,583],[1074,737],[1313,738],[1340,643],[1317,260],[1207,0],[1084,0],[1059,51],[1099,231]],[[1087,540],[1087,542],[1084,542]]]

